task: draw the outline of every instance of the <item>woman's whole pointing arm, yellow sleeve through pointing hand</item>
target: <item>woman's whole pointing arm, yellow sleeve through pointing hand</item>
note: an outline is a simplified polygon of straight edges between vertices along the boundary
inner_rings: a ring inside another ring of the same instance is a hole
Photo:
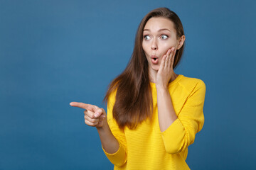
[[[97,106],[71,102],[70,106],[84,108],[85,124],[96,127],[102,143],[102,149],[110,162],[122,166],[127,161],[127,149],[124,132],[119,130],[117,123],[112,118],[112,100],[107,104],[107,112]],[[107,118],[106,118],[107,117]]]

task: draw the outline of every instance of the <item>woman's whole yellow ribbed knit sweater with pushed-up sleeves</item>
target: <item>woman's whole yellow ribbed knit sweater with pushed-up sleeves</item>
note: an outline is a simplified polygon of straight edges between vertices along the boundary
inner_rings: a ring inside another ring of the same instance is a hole
[[[114,154],[105,152],[114,169],[189,169],[185,160],[188,146],[193,144],[196,133],[204,123],[203,104],[206,85],[201,79],[179,74],[169,83],[169,93],[177,119],[164,132],[160,131],[156,85],[151,84],[153,96],[153,120],[144,120],[135,130],[119,130],[112,117],[115,92],[107,103],[107,122],[119,142]]]

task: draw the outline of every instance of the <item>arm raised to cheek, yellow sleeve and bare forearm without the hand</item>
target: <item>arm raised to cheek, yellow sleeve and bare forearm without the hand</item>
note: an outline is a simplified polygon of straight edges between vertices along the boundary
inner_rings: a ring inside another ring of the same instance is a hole
[[[164,95],[161,95],[161,92],[157,93],[161,137],[166,152],[169,154],[183,152],[189,145],[193,144],[196,133],[203,128],[206,85],[203,81],[198,81],[195,85],[178,113],[178,117],[171,100],[169,100],[169,91],[163,92]]]

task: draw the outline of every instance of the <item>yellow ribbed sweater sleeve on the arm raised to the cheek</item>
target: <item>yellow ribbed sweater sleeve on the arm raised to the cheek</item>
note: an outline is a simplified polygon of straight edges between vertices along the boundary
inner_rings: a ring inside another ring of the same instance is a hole
[[[203,128],[203,104],[206,95],[206,85],[198,79],[193,90],[183,104],[178,118],[169,128],[161,132],[164,147],[169,154],[183,152],[193,144],[196,133]]]

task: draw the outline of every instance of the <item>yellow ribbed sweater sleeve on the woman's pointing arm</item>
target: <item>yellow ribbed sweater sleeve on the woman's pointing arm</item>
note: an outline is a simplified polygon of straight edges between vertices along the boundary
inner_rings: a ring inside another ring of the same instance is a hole
[[[117,122],[114,120],[112,115],[115,94],[116,91],[110,95],[110,98],[107,101],[107,123],[110,126],[112,134],[119,142],[119,149],[114,154],[109,154],[105,152],[105,149],[103,149],[103,147],[102,149],[105,152],[107,158],[110,159],[110,162],[112,162],[112,164],[116,166],[122,166],[127,162],[127,142],[125,139],[124,131],[118,128]]]

